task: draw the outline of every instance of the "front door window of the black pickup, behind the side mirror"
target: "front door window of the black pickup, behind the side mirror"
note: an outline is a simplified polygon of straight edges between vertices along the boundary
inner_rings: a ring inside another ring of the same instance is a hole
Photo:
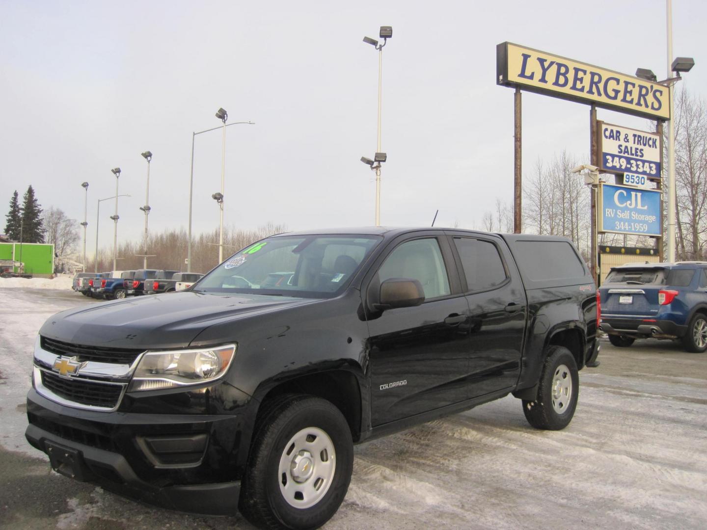
[[[390,278],[412,278],[421,283],[425,298],[450,293],[447,269],[434,237],[404,242],[385,259],[378,271],[380,281]]]

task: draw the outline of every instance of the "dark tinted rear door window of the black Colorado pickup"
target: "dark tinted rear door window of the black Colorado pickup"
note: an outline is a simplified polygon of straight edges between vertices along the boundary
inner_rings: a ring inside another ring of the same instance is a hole
[[[498,255],[496,245],[467,237],[455,237],[454,243],[462,260],[467,289],[492,289],[506,281],[506,267]]]

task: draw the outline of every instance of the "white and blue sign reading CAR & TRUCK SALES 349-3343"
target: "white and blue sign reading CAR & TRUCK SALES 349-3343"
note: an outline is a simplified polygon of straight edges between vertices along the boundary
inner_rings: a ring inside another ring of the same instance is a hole
[[[660,179],[660,135],[599,122],[603,172]],[[629,184],[626,182],[626,184]]]

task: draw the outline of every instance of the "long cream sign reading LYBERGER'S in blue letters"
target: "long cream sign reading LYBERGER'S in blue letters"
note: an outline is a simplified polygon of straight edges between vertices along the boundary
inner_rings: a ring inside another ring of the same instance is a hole
[[[648,119],[670,119],[665,86],[511,42],[496,46],[496,83]]]

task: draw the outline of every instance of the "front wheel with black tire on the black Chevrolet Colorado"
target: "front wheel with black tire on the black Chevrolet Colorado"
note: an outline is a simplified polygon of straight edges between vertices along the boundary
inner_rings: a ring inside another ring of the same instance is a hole
[[[259,528],[318,528],[339,510],[349,489],[349,424],[333,404],[313,396],[283,396],[263,407],[239,510]]]

